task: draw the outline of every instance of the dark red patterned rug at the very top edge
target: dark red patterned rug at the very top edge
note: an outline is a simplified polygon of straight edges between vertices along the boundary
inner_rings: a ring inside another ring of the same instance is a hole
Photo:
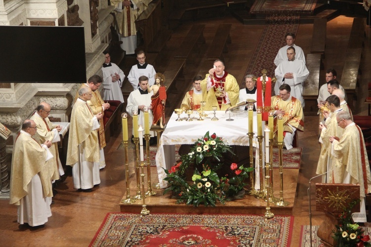
[[[250,14],[312,14],[317,0],[256,0]]]

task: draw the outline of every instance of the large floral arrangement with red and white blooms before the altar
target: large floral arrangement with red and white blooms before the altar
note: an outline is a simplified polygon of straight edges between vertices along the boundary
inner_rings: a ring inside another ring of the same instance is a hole
[[[216,171],[224,165],[222,157],[227,152],[232,153],[228,142],[224,142],[215,133],[210,135],[209,131],[206,132],[194,143],[190,152],[181,157],[181,162],[169,170],[165,169],[167,176],[164,180],[168,181],[169,187],[163,194],[171,191],[178,198],[177,203],[185,202],[193,206],[215,206],[217,201],[224,204],[225,200],[231,198],[243,198],[244,181],[253,168],[244,168],[243,165],[237,167],[237,164],[232,163],[231,170],[235,176],[230,179],[228,175],[220,178]],[[193,184],[188,184],[185,179],[185,171],[190,164],[195,165]]]

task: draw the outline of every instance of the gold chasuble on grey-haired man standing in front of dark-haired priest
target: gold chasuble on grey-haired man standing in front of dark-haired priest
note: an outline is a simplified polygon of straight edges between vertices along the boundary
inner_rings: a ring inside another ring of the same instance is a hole
[[[68,139],[66,165],[79,162],[79,153],[85,153],[85,160],[99,162],[99,144],[97,131],[93,130],[93,113],[83,100],[77,100],[72,108],[70,133]],[[82,145],[82,149],[79,149]],[[81,162],[81,161],[80,161]]]

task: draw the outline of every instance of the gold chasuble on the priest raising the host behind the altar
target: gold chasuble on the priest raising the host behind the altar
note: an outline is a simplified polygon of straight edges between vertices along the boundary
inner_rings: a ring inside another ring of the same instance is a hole
[[[212,111],[213,106],[217,106],[218,111],[225,111],[227,108],[238,103],[239,86],[236,79],[232,75],[224,71],[224,75],[222,77],[218,77],[214,72],[213,79],[211,79],[211,82],[208,82],[208,79],[210,78],[209,76],[210,74],[206,74],[205,79],[201,82],[203,94],[202,98],[206,101],[205,111]],[[208,83],[211,83],[212,86],[209,88],[209,90],[207,90]],[[217,97],[215,95],[215,91],[219,87],[223,92],[226,93],[225,97]],[[230,103],[228,103],[227,98],[229,99]]]

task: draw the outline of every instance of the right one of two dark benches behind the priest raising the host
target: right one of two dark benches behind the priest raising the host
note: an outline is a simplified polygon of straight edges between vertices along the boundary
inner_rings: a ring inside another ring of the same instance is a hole
[[[232,24],[220,24],[215,34],[213,42],[206,54],[207,60],[222,59],[224,61],[223,52],[227,53],[227,43],[232,43],[230,31]]]

